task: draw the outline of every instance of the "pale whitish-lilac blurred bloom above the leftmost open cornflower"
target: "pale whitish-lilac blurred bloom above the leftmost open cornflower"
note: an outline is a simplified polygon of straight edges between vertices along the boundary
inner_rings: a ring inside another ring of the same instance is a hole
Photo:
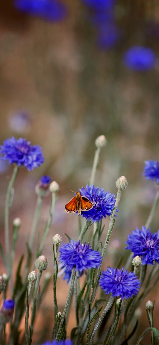
[[[11,114],[8,123],[9,127],[17,133],[28,132],[30,129],[30,116],[27,111],[18,110]]]

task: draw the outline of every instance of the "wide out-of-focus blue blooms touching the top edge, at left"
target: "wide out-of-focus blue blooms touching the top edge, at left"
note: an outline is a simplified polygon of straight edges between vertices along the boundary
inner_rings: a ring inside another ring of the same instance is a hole
[[[14,6],[22,12],[50,21],[62,20],[67,14],[66,5],[60,0],[14,0]]]

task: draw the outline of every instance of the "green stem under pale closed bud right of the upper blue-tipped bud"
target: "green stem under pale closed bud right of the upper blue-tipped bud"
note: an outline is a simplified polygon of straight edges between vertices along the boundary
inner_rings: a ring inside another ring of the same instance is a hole
[[[56,205],[56,201],[57,201],[56,193],[52,193],[52,196],[51,196],[51,206],[50,206],[50,216],[49,216],[49,219],[48,219],[48,221],[46,223],[46,227],[44,229],[44,233],[43,233],[43,237],[42,237],[42,240],[41,240],[40,248],[37,249],[37,257],[42,254],[42,250],[43,250],[43,247],[44,247],[44,244],[45,244],[45,241],[46,241],[46,238],[47,238],[50,226],[51,226],[52,216],[53,216],[54,208],[55,208],[55,205]]]

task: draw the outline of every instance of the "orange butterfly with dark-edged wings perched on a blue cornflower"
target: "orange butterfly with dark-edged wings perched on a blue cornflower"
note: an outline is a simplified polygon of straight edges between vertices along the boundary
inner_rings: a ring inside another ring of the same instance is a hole
[[[73,190],[71,190],[72,192]],[[75,193],[75,192],[73,192]],[[81,215],[81,211],[88,211],[93,207],[92,201],[85,196],[82,196],[78,191],[76,195],[65,205],[65,211],[68,213],[75,213],[78,211],[78,215]]]

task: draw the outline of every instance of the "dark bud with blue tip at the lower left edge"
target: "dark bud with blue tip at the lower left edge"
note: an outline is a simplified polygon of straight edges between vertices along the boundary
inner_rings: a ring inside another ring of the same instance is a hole
[[[11,322],[14,312],[14,300],[6,299],[3,302],[0,310],[0,324],[5,325],[7,322]]]

